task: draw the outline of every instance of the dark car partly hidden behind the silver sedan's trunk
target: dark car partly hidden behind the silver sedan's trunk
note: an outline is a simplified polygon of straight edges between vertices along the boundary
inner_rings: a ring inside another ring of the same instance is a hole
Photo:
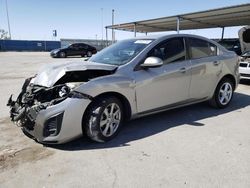
[[[217,42],[226,49],[234,51],[237,55],[242,54],[239,39],[222,39]]]

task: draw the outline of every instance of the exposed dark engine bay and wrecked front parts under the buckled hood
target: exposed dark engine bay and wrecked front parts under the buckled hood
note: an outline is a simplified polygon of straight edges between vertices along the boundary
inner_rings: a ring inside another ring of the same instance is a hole
[[[58,104],[68,97],[86,97],[87,95],[75,92],[74,88],[91,79],[113,72],[113,70],[68,71],[51,87],[34,84],[36,76],[28,78],[25,80],[16,101],[12,99],[13,95],[8,100],[7,106],[11,108],[11,120],[18,126],[33,130],[36,117],[41,110]],[[90,98],[90,96],[87,97]]]

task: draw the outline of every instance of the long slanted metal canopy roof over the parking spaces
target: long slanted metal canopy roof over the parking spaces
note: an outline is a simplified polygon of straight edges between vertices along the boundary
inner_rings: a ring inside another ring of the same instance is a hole
[[[250,25],[250,3],[207,11],[106,26],[135,32],[179,31]]]

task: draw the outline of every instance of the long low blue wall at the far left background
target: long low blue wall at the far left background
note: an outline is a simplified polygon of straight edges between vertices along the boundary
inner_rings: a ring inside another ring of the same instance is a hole
[[[60,41],[0,40],[0,51],[51,51],[60,47]]]

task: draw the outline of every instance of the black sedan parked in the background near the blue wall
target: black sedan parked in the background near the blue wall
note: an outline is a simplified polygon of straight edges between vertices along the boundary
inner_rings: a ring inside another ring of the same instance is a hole
[[[88,56],[97,52],[96,48],[84,43],[74,43],[69,46],[52,50],[50,52],[51,57],[68,57],[68,56]]]

